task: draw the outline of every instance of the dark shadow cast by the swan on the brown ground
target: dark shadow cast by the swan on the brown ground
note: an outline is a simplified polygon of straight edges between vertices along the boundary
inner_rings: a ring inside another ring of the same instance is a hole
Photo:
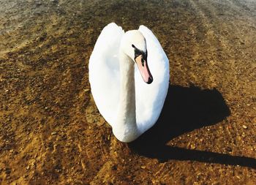
[[[169,159],[195,160],[256,168],[256,159],[253,158],[166,145],[178,135],[217,124],[229,115],[230,110],[222,94],[215,88],[201,90],[195,86],[189,88],[169,86],[159,120],[154,127],[129,143],[129,147],[140,155],[157,158],[163,162]]]

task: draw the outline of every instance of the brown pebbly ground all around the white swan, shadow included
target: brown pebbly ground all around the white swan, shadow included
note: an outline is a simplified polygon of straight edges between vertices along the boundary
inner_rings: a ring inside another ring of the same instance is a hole
[[[120,143],[88,63],[110,22],[170,59],[157,124]],[[256,184],[256,1],[0,0],[0,184]]]

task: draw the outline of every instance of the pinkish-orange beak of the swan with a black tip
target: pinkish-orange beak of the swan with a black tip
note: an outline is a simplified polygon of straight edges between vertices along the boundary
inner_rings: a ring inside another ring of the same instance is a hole
[[[153,82],[153,77],[148,69],[148,62],[143,58],[142,55],[135,58],[136,64],[140,70],[140,75],[142,76],[144,82],[150,84]]]

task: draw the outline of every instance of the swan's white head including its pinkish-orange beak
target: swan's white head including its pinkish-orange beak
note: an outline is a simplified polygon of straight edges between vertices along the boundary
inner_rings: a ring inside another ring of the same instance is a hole
[[[127,31],[121,39],[121,50],[135,61],[144,82],[152,83],[153,77],[148,68],[148,52],[143,34],[138,30]]]

